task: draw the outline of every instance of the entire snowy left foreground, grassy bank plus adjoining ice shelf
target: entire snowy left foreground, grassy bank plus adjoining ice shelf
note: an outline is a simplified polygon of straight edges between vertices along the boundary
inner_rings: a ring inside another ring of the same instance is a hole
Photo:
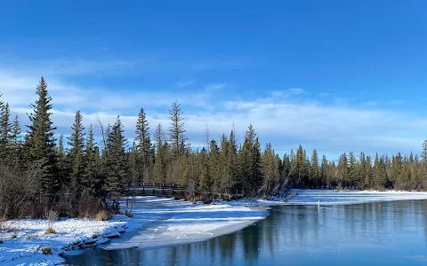
[[[184,200],[136,197],[133,218],[116,215],[107,222],[62,219],[53,224],[56,234],[45,235],[47,221],[14,220],[0,232],[0,265],[52,265],[64,260],[61,253],[75,253],[85,246],[105,244],[106,249],[132,246],[159,247],[202,241],[238,231],[267,215],[263,207],[193,205]],[[111,237],[120,239],[109,242]],[[51,247],[52,254],[42,249]]]

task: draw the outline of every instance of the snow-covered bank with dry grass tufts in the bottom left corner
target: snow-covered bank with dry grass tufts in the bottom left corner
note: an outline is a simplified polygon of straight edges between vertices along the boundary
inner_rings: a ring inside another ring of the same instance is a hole
[[[117,217],[118,218],[118,217]],[[49,265],[63,262],[59,254],[67,246],[95,245],[106,242],[107,237],[124,231],[125,222],[118,219],[96,222],[93,219],[62,219],[53,223],[56,234],[44,234],[48,228],[45,220],[13,220],[3,224],[0,232],[0,265]],[[50,247],[52,255],[42,249]]]

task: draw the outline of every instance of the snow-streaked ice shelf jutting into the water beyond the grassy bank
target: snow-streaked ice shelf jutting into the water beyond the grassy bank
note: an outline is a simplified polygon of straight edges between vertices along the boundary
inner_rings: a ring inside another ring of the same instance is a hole
[[[183,200],[140,197],[129,223],[134,231],[102,247],[155,248],[203,241],[238,231],[267,215],[264,207],[233,206],[229,202],[193,205]]]

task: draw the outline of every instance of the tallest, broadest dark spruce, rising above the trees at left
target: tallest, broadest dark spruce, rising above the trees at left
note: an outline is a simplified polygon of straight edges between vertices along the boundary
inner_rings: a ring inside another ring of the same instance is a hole
[[[30,125],[26,137],[26,149],[28,150],[28,168],[38,168],[40,175],[34,181],[34,191],[38,199],[52,200],[59,191],[60,180],[56,171],[56,151],[52,126],[51,110],[52,98],[47,91],[47,83],[42,77],[36,87],[38,99],[31,105],[33,113],[29,114]],[[49,201],[46,201],[49,202]]]

